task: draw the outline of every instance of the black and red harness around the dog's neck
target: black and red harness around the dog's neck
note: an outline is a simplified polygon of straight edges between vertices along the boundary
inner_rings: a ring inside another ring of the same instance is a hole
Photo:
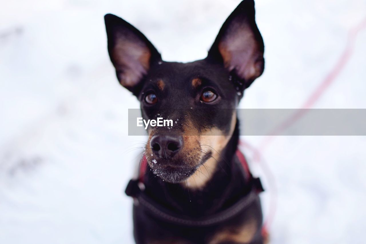
[[[189,218],[184,215],[178,215],[171,210],[161,206],[151,197],[147,196],[145,193],[145,186],[143,185],[143,177],[145,175],[147,169],[147,160],[145,155],[143,156],[143,160],[141,162],[141,167],[139,169],[139,177],[138,179],[132,179],[128,182],[126,187],[126,195],[134,197],[137,200],[137,203],[140,204],[145,210],[147,210],[150,214],[154,215],[154,217],[169,222],[175,223],[184,226],[198,227],[198,226],[210,226],[215,225],[220,222],[224,222],[225,220],[234,217],[244,208],[248,207],[251,203],[253,203],[258,196],[258,193],[264,191],[261,181],[259,178],[254,178],[250,173],[248,163],[239,150],[236,151],[236,156],[239,159],[239,162],[242,165],[243,173],[245,174],[245,178],[248,179],[249,184],[251,184],[251,191],[240,198],[235,204],[231,207],[220,211],[216,214],[202,217],[202,218]]]

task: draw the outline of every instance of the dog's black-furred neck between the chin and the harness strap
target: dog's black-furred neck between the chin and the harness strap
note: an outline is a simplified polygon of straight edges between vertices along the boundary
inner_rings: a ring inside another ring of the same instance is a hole
[[[176,213],[205,216],[223,210],[235,203],[250,186],[243,178],[240,163],[235,157],[239,141],[236,123],[234,133],[217,159],[216,170],[202,189],[190,189],[183,184],[171,184],[153,174],[145,173],[145,192],[162,206]],[[148,166],[149,167],[149,166]]]

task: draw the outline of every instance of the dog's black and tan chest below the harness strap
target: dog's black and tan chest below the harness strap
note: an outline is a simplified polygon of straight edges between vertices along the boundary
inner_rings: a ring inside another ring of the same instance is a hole
[[[263,243],[261,237],[262,216],[258,216],[254,204],[234,218],[215,226],[189,227],[152,218],[134,207],[134,229],[137,243],[147,244],[221,244]]]

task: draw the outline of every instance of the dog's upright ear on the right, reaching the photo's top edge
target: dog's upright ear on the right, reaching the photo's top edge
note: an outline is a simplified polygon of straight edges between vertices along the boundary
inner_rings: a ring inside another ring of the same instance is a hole
[[[224,22],[208,58],[222,62],[244,90],[263,73],[263,53],[263,39],[255,23],[254,1],[244,0]]]

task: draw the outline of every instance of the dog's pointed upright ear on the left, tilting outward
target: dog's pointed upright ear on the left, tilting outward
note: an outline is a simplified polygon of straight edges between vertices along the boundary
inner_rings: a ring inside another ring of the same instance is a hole
[[[147,38],[130,23],[113,14],[104,16],[108,53],[121,85],[135,95],[141,80],[161,55]]]

